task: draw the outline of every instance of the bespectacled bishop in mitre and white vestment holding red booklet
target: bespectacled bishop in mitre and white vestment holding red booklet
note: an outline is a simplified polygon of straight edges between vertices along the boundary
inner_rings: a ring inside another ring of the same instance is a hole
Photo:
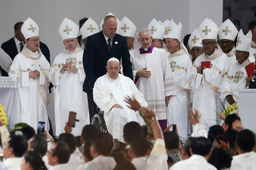
[[[210,126],[217,124],[216,111],[222,112],[220,91],[224,78],[228,75],[229,64],[228,57],[215,40],[218,26],[212,20],[206,18],[201,23],[199,34],[205,53],[198,56],[188,70],[188,82],[194,88],[193,109],[197,109],[202,115],[201,122],[208,131]]]

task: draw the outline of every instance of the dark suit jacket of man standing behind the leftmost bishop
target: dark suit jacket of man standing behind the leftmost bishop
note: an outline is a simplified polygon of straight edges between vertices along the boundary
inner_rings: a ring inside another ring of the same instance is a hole
[[[18,50],[17,50],[16,44],[14,41],[14,37],[12,37],[8,41],[2,43],[1,48],[12,58],[12,60],[18,54]],[[46,60],[51,64],[50,51],[49,51],[47,45],[42,43],[41,41],[40,41],[40,49],[41,49],[43,55],[45,56]],[[8,76],[8,72],[5,72],[1,67],[0,67],[0,70],[2,72],[2,76]],[[49,87],[50,92],[51,92],[51,88],[52,88],[52,84],[50,84],[50,87]]]

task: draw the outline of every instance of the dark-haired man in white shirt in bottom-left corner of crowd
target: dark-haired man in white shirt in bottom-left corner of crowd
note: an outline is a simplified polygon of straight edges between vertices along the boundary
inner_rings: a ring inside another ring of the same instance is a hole
[[[21,157],[28,148],[27,139],[20,131],[11,134],[3,145],[4,167],[6,170],[19,170]]]

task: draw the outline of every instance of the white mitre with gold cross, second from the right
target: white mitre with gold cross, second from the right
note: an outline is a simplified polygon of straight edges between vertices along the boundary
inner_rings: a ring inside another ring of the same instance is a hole
[[[236,26],[232,23],[232,21],[228,19],[220,25],[218,34],[219,34],[220,40],[229,39],[231,41],[234,41],[237,33],[238,33],[238,30],[236,29]]]

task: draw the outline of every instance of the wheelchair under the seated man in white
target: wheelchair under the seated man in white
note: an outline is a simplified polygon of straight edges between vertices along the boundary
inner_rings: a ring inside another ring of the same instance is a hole
[[[100,131],[104,133],[108,133],[108,129],[104,120],[104,111],[100,111],[100,108],[97,106],[97,112],[94,117],[92,117],[90,121],[90,125],[94,125],[99,129]]]

